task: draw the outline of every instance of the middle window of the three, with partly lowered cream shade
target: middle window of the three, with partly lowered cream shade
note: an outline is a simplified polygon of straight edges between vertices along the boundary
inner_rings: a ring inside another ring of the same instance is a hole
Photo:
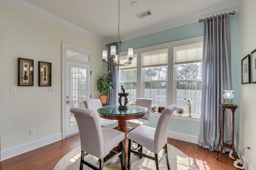
[[[142,52],[144,98],[151,98],[153,105],[166,106],[168,48]]]

